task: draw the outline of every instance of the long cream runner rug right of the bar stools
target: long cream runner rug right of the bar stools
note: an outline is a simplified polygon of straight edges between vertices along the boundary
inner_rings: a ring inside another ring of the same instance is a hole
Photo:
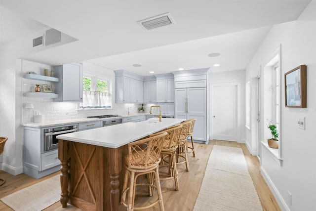
[[[262,211],[240,148],[213,147],[194,211]]]

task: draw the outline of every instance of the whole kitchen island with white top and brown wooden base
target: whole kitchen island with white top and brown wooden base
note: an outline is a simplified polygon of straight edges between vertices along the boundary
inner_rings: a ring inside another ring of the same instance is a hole
[[[152,118],[57,136],[62,206],[117,211],[127,144],[183,121]]]

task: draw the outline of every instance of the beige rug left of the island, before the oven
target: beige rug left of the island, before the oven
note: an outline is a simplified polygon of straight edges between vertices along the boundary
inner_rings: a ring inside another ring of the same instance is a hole
[[[41,211],[60,199],[60,176],[21,189],[1,201],[15,211]]]

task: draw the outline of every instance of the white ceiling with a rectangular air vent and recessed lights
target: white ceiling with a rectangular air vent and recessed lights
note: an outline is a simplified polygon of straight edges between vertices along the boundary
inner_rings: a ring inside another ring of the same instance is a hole
[[[142,76],[178,68],[244,70],[270,27],[296,20],[310,1],[0,0],[0,44],[48,26],[78,41],[24,59],[50,65],[88,60]],[[137,24],[165,12],[175,24],[149,31]],[[208,57],[214,52],[221,55]]]

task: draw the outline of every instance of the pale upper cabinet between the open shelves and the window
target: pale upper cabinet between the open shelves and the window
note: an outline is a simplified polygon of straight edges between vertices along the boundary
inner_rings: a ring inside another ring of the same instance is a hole
[[[59,97],[54,98],[54,101],[82,102],[82,64],[54,66],[54,71],[59,78],[59,82],[55,83],[55,92]]]

